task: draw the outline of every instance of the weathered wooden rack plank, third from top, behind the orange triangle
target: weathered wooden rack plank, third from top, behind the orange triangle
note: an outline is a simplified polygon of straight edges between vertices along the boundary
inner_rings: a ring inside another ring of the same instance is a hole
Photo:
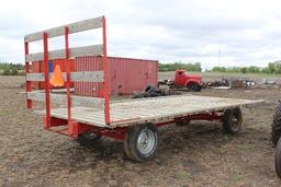
[[[49,73],[53,77],[53,72]],[[66,72],[63,72],[63,77],[66,80]],[[45,81],[44,73],[26,73],[26,81]],[[71,82],[103,82],[104,72],[103,71],[79,71],[70,72]]]

